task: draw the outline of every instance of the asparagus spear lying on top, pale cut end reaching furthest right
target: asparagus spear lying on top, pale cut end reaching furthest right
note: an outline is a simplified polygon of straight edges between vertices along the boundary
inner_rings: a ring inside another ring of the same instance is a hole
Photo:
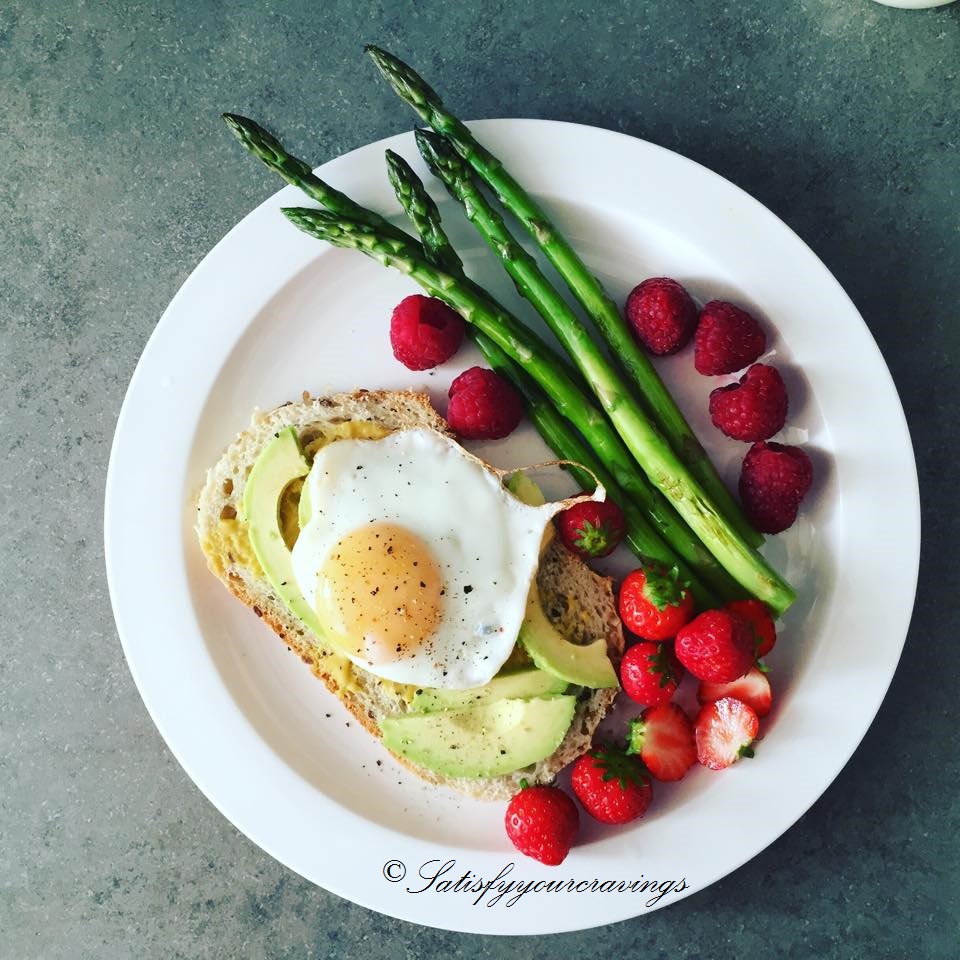
[[[435,133],[418,130],[417,145],[431,170],[460,201],[467,219],[500,258],[517,290],[536,307],[580,368],[650,481],[673,503],[726,570],[755,593],[758,579],[771,568],[716,509],[699,481],[650,423],[612,363],[597,349],[566,301],[551,286],[533,257],[517,243],[503,218],[480,191],[470,168]],[[786,586],[779,577],[777,579],[775,592]]]

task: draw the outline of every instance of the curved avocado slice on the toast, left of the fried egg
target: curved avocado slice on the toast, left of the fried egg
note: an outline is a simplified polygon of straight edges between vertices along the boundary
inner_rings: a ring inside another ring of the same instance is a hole
[[[277,596],[318,637],[324,636],[317,615],[310,609],[293,575],[290,550],[280,530],[280,497],[287,485],[310,471],[297,431],[281,430],[263,448],[247,477],[240,510],[250,544]]]

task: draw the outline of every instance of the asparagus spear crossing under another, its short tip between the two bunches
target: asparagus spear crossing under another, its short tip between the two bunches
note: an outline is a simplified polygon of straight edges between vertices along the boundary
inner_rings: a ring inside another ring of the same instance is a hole
[[[443,229],[436,203],[427,193],[423,182],[413,168],[403,157],[391,150],[387,151],[387,167],[397,199],[420,234],[427,259],[448,273],[460,276],[464,282],[472,284],[472,281],[463,274],[463,263]],[[486,295],[485,291],[480,292]],[[680,576],[690,583],[690,589],[698,603],[703,607],[716,605],[716,594],[700,582],[684,561],[676,559],[673,551],[648,523],[643,511],[627,496],[576,431],[560,416],[553,404],[523,372],[523,369],[475,327],[469,326],[468,331],[490,366],[513,383],[523,396],[527,414],[547,445],[558,457],[583,464],[587,468],[581,470],[576,466],[567,466],[577,483],[585,490],[593,490],[594,478],[596,478],[604,485],[613,500],[620,505],[626,520],[625,540],[638,559],[644,563],[655,561],[668,567],[676,565]]]

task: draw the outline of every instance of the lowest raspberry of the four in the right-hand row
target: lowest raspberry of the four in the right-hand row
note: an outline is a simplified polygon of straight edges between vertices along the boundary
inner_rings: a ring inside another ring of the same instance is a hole
[[[761,440],[743,458],[740,500],[761,533],[780,533],[797,519],[812,483],[813,464],[799,447]]]

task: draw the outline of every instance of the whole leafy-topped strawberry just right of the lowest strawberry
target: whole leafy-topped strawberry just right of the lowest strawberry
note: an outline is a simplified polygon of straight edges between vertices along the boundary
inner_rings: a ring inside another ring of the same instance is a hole
[[[619,750],[585,753],[573,765],[570,783],[583,809],[601,823],[629,823],[642,817],[653,798],[643,767]]]

